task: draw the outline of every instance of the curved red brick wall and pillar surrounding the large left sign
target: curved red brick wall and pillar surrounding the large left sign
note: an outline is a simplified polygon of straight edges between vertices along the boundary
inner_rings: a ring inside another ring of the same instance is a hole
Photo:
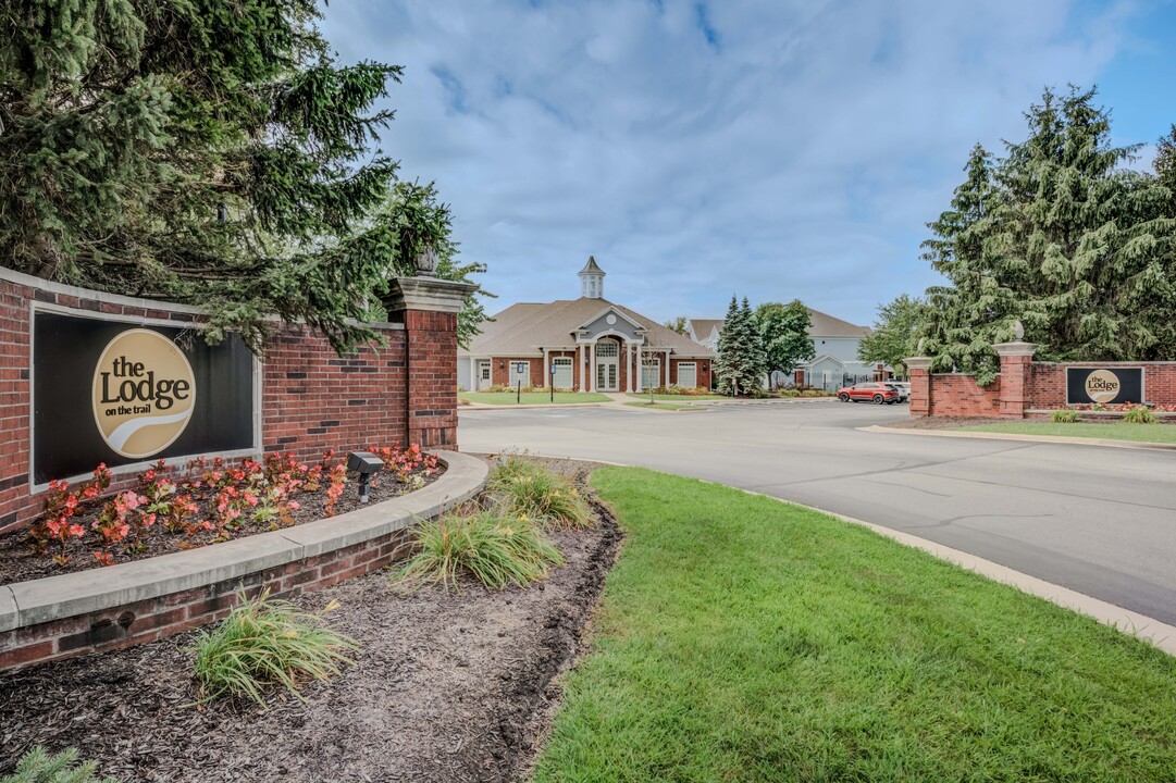
[[[474,287],[426,277],[395,281],[397,293],[405,287],[410,295],[389,303],[397,322],[375,324],[382,346],[340,357],[309,329],[279,330],[258,372],[258,431],[249,451],[288,450],[315,459],[328,448],[408,443],[457,448],[456,310]],[[34,310],[128,328],[199,328],[203,320],[192,307],[60,286],[0,269],[0,533],[27,524],[41,507],[41,486],[31,478]],[[125,466],[123,473],[131,475],[151,461]]]

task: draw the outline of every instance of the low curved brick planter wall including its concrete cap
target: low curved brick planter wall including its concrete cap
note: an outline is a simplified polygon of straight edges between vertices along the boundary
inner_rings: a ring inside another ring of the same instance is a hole
[[[473,497],[486,463],[437,453],[445,474],[401,497],[215,547],[0,585],[0,670],[118,649],[225,617],[242,590],[288,597],[382,568],[421,520]],[[303,507],[305,508],[305,507]]]

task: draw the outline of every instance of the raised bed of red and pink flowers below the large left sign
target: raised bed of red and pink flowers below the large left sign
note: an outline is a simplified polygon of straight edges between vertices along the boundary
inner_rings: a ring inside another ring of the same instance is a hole
[[[372,500],[420,489],[441,471],[417,446],[372,448],[386,464],[372,478]],[[346,459],[328,451],[315,464],[292,454],[228,463],[200,457],[182,469],[160,461],[109,497],[106,466],[69,487],[49,483],[45,513],[28,530],[0,536],[0,584],[113,566],[293,527],[356,508]]]

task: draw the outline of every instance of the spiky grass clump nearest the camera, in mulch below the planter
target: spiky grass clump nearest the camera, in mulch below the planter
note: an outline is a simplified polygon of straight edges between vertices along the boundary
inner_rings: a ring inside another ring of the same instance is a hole
[[[270,598],[268,590],[254,600],[242,595],[225,622],[196,641],[200,702],[247,696],[265,708],[262,689],[268,685],[285,685],[302,698],[303,681],[338,675],[341,664],[352,663],[346,652],[359,647],[326,625],[323,615],[336,605],[306,613]]]

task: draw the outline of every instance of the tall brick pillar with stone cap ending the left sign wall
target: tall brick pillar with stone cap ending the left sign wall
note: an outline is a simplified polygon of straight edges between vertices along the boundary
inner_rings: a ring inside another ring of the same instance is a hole
[[[457,449],[457,312],[477,286],[396,277],[385,306],[405,324],[405,444]]]

